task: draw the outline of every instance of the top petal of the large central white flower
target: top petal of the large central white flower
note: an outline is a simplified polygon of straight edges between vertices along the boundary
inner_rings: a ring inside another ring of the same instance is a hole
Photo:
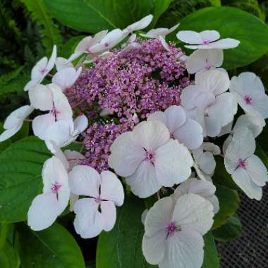
[[[144,147],[148,152],[154,152],[170,138],[168,128],[159,121],[143,121],[135,126],[132,133],[135,144]]]

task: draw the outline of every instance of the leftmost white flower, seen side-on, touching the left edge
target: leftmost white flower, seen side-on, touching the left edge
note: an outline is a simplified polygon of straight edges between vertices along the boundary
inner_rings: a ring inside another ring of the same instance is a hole
[[[13,111],[6,118],[4,123],[4,132],[0,135],[0,142],[3,142],[15,135],[20,128],[22,128],[25,118],[28,117],[33,110],[34,108],[32,106],[25,105]]]

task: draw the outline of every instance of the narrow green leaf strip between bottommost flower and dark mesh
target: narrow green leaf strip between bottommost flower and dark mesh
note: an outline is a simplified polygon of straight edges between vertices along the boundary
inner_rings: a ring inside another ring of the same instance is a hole
[[[219,268],[219,255],[211,231],[204,236],[204,242],[204,262],[202,268]]]

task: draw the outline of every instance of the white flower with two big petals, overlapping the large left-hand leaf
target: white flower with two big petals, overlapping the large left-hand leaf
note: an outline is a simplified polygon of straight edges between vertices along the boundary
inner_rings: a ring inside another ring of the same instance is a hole
[[[51,226],[70,198],[68,173],[60,159],[51,157],[44,162],[42,178],[43,193],[35,197],[28,211],[28,225],[34,231]]]

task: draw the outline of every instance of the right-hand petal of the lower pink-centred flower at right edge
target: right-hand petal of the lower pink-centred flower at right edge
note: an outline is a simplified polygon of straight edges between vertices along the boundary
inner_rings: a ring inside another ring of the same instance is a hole
[[[253,154],[246,160],[245,169],[252,181],[258,186],[264,186],[268,181],[267,168],[256,155]]]

